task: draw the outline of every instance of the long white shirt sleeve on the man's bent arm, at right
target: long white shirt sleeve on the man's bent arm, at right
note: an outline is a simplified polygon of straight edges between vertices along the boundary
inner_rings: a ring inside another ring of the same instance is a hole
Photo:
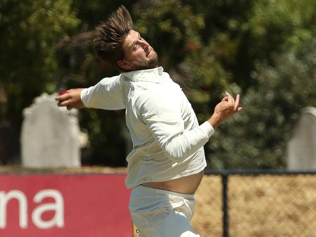
[[[168,89],[150,93],[147,98],[142,98],[145,102],[140,109],[143,122],[151,130],[159,146],[177,163],[204,146],[214,133],[213,127],[207,121],[190,130],[184,129],[181,98],[180,92],[175,93]]]

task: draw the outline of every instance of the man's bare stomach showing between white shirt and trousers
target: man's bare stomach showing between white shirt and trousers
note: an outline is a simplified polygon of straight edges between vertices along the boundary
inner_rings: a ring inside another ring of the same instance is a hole
[[[143,184],[152,188],[168,190],[177,193],[193,194],[200,185],[203,175],[204,170],[197,174],[181,177],[175,180],[162,182],[145,182]]]

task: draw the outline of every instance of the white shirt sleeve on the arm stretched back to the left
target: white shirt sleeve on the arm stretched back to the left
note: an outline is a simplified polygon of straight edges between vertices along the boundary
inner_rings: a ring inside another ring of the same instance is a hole
[[[95,109],[125,109],[120,75],[103,78],[95,86],[80,93],[85,107]]]

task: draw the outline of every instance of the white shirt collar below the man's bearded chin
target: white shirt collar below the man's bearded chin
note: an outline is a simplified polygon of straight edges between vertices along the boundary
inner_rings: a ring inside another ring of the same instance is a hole
[[[152,68],[152,69],[145,69],[145,70],[137,70],[131,71],[127,73],[123,73],[123,76],[127,77],[132,81],[151,81],[160,83],[161,76],[162,76],[163,68]]]

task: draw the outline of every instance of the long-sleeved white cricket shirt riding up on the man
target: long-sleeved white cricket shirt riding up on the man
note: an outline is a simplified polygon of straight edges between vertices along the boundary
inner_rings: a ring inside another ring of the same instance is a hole
[[[133,150],[126,160],[127,188],[196,174],[206,166],[203,146],[214,133],[199,126],[182,89],[163,68],[102,79],[81,92],[88,108],[126,109]]]

